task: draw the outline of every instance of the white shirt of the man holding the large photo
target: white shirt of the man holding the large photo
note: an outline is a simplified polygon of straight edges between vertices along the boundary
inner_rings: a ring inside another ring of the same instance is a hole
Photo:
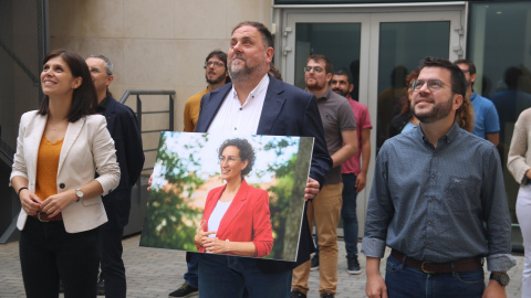
[[[256,135],[263,100],[269,86],[269,76],[266,74],[260,83],[252,89],[243,105],[238,99],[238,94],[232,89],[219,107],[219,111],[208,127],[209,134]]]

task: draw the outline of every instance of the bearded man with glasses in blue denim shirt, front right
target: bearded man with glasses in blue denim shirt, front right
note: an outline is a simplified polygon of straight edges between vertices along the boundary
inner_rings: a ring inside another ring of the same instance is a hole
[[[426,57],[412,84],[417,128],[378,152],[362,252],[368,297],[506,297],[511,219],[498,151],[461,129],[464,73]],[[379,273],[392,248],[385,281]],[[483,284],[483,257],[491,270]]]

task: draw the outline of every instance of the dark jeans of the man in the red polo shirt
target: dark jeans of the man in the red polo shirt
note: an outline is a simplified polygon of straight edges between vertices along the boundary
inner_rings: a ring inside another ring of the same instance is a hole
[[[345,238],[346,255],[357,255],[357,215],[356,215],[356,175],[342,174],[343,177],[343,235]]]

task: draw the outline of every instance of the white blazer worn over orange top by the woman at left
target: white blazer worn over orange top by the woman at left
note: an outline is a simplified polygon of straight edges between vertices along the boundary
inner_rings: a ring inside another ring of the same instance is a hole
[[[17,153],[10,181],[15,175],[28,179],[28,188],[35,192],[37,156],[48,116],[35,110],[24,113],[20,118]],[[58,193],[75,189],[96,178],[102,184],[103,195],[118,185],[119,167],[116,162],[114,141],[106,128],[105,117],[90,115],[75,123],[69,123],[59,158]],[[45,198],[41,198],[45,199]],[[63,211],[66,232],[77,233],[95,228],[107,221],[102,198],[83,198],[67,205]],[[22,209],[17,227],[23,230],[28,214]]]

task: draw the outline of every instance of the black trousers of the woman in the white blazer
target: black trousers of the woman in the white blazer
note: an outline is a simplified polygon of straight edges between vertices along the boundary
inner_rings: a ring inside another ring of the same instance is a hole
[[[95,298],[100,266],[98,228],[66,233],[62,221],[42,223],[29,216],[19,253],[28,298]]]

